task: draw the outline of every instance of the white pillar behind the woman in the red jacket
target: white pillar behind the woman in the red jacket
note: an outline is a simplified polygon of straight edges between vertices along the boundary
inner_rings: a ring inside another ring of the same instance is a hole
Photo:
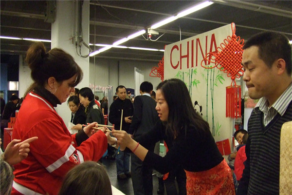
[[[75,0],[56,0],[56,17],[55,22],[52,23],[52,49],[55,47],[61,48],[73,56],[76,63],[83,71],[83,80],[76,86],[77,88],[89,87],[89,57],[82,58],[76,53],[75,43],[72,39],[74,36],[74,29],[76,25],[76,3]],[[85,43],[89,45],[89,11],[90,1],[83,1],[82,9],[82,36]],[[79,47],[77,46],[79,53]],[[89,53],[84,45],[82,45],[81,54],[86,56]],[[67,106],[67,102],[58,105],[57,113],[63,118],[67,125],[71,119],[71,111]]]

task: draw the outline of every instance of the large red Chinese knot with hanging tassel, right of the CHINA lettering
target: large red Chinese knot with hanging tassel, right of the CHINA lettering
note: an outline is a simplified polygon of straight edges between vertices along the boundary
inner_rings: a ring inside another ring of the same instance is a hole
[[[231,85],[226,87],[226,117],[241,117],[241,87],[236,85],[235,79],[240,78],[244,71],[241,65],[242,60],[242,46],[244,39],[240,39],[235,34],[235,24],[231,24],[232,37],[228,36],[224,39],[216,52],[206,54],[201,61],[203,68],[211,69],[219,68],[220,71],[227,73],[227,77],[231,77]],[[215,64],[214,67],[205,67],[203,62],[209,61]]]

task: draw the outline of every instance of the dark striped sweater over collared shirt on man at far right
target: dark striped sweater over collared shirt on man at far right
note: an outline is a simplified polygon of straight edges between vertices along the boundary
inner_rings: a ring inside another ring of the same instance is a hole
[[[265,127],[263,113],[254,109],[248,122],[247,160],[238,195],[279,194],[280,133],[284,122],[292,120],[292,101],[285,114],[278,113]]]

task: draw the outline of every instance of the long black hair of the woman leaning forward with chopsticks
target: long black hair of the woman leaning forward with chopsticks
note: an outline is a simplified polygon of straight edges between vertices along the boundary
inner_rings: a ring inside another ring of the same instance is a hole
[[[173,138],[185,135],[187,128],[195,127],[198,131],[209,131],[209,124],[195,111],[187,87],[177,78],[161,82],[161,90],[168,104],[169,114],[166,122],[166,135]]]

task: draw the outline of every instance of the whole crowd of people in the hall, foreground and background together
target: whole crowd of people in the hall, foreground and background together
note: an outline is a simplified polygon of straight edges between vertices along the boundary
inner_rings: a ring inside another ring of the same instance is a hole
[[[165,174],[167,195],[279,194],[281,126],[292,120],[292,48],[284,35],[263,32],[243,49],[243,80],[259,101],[247,131],[235,132],[239,146],[226,161],[182,80],[166,79],[156,93],[142,82],[133,99],[119,85],[108,105],[90,88],[75,88],[83,72],[71,55],[33,43],[26,61],[34,82],[22,101],[12,95],[1,111],[2,134],[18,109],[13,140],[0,158],[1,195],[111,195],[106,169],[97,163],[109,147],[117,179],[132,178],[134,195],[152,195],[153,169]],[[76,134],[54,109],[66,101]],[[107,115],[111,130],[102,126]],[[161,140],[165,156],[154,153]]]

